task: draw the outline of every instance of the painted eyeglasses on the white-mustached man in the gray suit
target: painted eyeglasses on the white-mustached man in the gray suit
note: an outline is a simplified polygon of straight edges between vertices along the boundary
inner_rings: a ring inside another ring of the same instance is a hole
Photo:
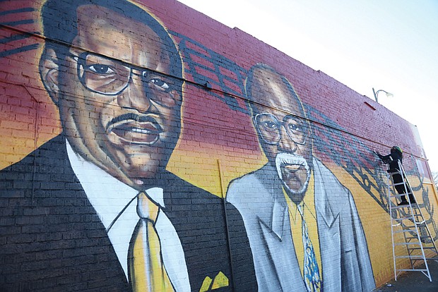
[[[273,114],[261,113],[254,116],[254,123],[261,138],[268,144],[277,144],[281,139],[281,127],[284,127],[291,140],[299,145],[306,143],[309,135],[309,126],[302,118],[296,116],[285,116],[283,121]]]

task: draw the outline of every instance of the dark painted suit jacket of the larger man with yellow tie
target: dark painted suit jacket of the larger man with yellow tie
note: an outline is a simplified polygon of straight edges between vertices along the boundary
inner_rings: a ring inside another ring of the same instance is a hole
[[[226,205],[228,241],[222,199],[169,172],[153,186],[164,188],[164,212],[182,243],[192,291],[218,272],[230,285],[215,291],[256,291],[237,209]],[[0,230],[0,291],[131,291],[71,169],[63,135],[0,171]]]

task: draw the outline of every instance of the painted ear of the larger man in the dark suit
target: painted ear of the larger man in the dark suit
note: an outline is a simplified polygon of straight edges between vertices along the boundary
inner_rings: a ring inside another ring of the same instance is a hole
[[[40,75],[47,92],[55,104],[59,101],[59,65],[54,49],[45,49],[40,60]]]

